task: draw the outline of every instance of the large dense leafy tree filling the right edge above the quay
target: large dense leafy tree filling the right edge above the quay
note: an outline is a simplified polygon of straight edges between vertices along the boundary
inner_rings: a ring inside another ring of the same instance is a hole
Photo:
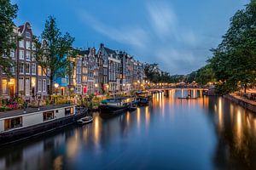
[[[256,82],[256,0],[238,10],[230,28],[209,60],[221,94],[234,92]]]

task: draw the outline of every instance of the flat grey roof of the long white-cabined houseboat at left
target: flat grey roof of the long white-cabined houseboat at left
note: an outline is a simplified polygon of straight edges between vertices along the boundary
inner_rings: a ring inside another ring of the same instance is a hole
[[[69,105],[69,104],[46,105],[46,106],[40,107],[40,111],[38,111],[38,107],[37,108],[29,107],[29,108],[26,108],[26,113],[23,113],[24,111],[23,109],[14,110],[14,111],[4,111],[4,112],[0,112],[0,119],[12,117],[12,116],[22,116],[22,115],[26,115],[34,112],[51,111],[51,110],[59,109],[62,107],[68,107],[68,106],[75,106],[75,105]]]

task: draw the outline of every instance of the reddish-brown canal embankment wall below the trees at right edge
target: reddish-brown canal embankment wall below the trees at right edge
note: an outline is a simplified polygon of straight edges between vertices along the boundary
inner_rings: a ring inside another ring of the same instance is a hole
[[[226,94],[224,95],[225,99],[230,99],[232,102],[236,103],[237,105],[241,105],[249,111],[253,111],[256,113],[256,102],[251,99],[244,99],[241,96],[236,94]]]

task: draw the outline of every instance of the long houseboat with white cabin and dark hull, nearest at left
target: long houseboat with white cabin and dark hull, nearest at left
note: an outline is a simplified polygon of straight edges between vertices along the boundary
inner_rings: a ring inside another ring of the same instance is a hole
[[[86,115],[75,105],[48,105],[0,112],[0,145],[14,143],[73,124]]]

